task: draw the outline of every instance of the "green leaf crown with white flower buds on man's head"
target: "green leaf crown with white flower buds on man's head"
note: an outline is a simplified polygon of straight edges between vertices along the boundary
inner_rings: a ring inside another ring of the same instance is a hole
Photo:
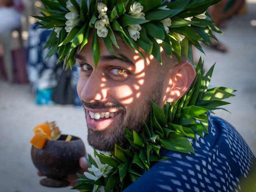
[[[41,0],[45,9],[42,16],[34,16],[40,28],[54,28],[44,48],[47,57],[59,53],[58,62],[64,59],[66,68],[75,65],[74,54],[87,43],[94,28],[92,54],[97,66],[100,58],[98,37],[102,37],[108,51],[122,58],[114,50],[118,35],[132,50],[145,59],[142,48],[162,63],[160,47],[180,61],[181,54],[193,62],[192,45],[201,52],[200,42],[211,44],[216,39],[212,31],[221,33],[214,26],[206,11],[220,0]]]

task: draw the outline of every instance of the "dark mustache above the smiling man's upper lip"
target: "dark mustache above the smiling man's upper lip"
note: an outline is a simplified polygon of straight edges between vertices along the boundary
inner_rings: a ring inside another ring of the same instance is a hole
[[[115,109],[116,112],[124,114],[126,112],[123,105],[113,102],[100,102],[100,101],[94,101],[94,102],[85,102],[82,101],[82,105],[87,108],[91,109]]]

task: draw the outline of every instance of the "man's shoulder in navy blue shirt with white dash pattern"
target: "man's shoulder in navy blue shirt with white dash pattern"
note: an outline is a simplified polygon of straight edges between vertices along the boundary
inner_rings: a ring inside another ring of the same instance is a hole
[[[126,191],[240,191],[241,180],[255,174],[255,157],[228,122],[212,117],[210,125],[204,138],[191,140],[194,154],[167,151],[168,160],[154,164]]]

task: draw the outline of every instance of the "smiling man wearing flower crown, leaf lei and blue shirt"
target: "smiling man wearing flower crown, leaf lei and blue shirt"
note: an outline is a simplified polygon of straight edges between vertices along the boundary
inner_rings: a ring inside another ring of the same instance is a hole
[[[205,12],[217,2],[44,1],[49,56],[80,66],[88,143],[99,150],[75,189],[256,191],[250,148],[210,116],[235,90],[210,86],[213,67],[191,64],[192,45],[202,51],[199,41],[220,33]]]

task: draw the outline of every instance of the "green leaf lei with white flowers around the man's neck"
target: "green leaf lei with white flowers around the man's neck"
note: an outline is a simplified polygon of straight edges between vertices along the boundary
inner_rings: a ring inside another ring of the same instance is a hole
[[[200,58],[196,66],[196,78],[188,92],[175,102],[166,103],[164,109],[152,102],[150,116],[141,134],[125,128],[127,144],[116,144],[109,155],[94,151],[98,162],[89,155],[89,166],[98,168],[95,170],[99,170],[100,174],[93,171],[86,173],[86,176],[78,174],[80,179],[76,182],[80,184],[73,189],[82,189],[82,192],[122,191],[143,172],[150,170],[154,162],[167,159],[160,156],[161,148],[194,153],[188,138],[196,139],[196,134],[203,137],[208,133],[206,112],[225,110],[220,106],[229,103],[222,100],[234,96],[232,93],[236,91],[220,86],[209,88],[213,69],[214,65],[204,74]]]

